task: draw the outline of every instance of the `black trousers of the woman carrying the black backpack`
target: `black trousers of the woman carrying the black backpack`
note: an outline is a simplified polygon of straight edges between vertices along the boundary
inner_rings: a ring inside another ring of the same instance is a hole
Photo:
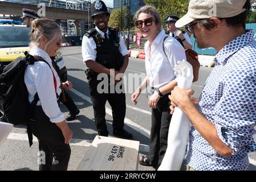
[[[34,122],[30,122],[32,133],[39,142],[39,170],[66,171],[71,149],[64,143],[62,131],[44,114],[42,106],[36,106],[33,113]],[[53,161],[54,159],[54,161]]]

